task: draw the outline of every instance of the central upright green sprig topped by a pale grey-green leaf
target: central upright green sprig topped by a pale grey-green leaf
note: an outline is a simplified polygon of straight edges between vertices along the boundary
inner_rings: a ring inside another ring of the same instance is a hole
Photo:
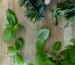
[[[44,36],[39,37],[39,35],[44,35]],[[52,61],[50,61],[47,58],[47,55],[44,52],[46,40],[49,37],[49,30],[48,29],[42,29],[38,32],[37,36],[38,36],[38,38],[37,38],[37,43],[36,43],[36,46],[35,46],[36,57],[35,57],[35,64],[34,65],[55,65]]]

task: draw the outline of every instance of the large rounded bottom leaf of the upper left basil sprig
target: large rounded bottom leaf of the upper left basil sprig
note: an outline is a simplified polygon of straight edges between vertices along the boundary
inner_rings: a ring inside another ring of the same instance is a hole
[[[6,28],[3,32],[3,40],[4,42],[8,42],[15,37],[15,30],[12,28]]]

